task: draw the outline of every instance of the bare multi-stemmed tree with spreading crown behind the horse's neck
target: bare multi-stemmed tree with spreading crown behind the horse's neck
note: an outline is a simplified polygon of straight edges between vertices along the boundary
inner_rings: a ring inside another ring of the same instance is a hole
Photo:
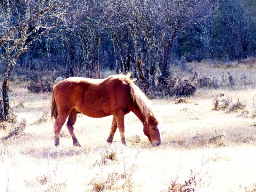
[[[212,0],[122,0],[106,4],[108,15],[127,26],[134,45],[135,68],[141,82],[154,89],[154,78],[167,76],[175,38],[216,9]],[[146,53],[144,45],[146,46]]]

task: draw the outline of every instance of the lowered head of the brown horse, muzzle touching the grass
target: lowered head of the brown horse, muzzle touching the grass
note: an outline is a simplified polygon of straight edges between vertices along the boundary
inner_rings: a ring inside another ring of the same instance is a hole
[[[161,134],[160,134],[160,127],[158,125],[158,121],[155,117],[149,116],[148,122],[144,123],[143,132],[148,137],[150,143],[153,146],[160,146],[161,145]]]

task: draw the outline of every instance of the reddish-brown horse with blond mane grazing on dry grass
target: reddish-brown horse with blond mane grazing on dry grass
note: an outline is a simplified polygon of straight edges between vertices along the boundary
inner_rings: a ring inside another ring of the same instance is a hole
[[[124,139],[124,115],[132,111],[144,125],[144,134],[153,146],[161,145],[156,114],[150,102],[130,75],[109,76],[106,79],[70,77],[56,84],[52,90],[51,116],[54,117],[54,142],[60,144],[60,130],[68,117],[68,131],[75,146],[80,146],[74,134],[77,113],[89,117],[113,115],[108,142],[112,143],[118,127],[121,141]]]

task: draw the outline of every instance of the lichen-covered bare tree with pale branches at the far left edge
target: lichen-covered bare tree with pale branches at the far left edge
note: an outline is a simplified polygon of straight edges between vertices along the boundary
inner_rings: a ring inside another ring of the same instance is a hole
[[[0,56],[5,65],[2,94],[0,91],[0,121],[9,116],[9,82],[17,59],[33,43],[58,27],[65,14],[61,1],[0,1]]]

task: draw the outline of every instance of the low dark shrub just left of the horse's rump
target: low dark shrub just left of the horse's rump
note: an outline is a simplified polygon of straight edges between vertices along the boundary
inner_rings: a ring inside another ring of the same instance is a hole
[[[52,92],[53,85],[49,83],[48,81],[30,81],[28,83],[27,89],[30,92],[39,93],[41,91],[43,92]]]

